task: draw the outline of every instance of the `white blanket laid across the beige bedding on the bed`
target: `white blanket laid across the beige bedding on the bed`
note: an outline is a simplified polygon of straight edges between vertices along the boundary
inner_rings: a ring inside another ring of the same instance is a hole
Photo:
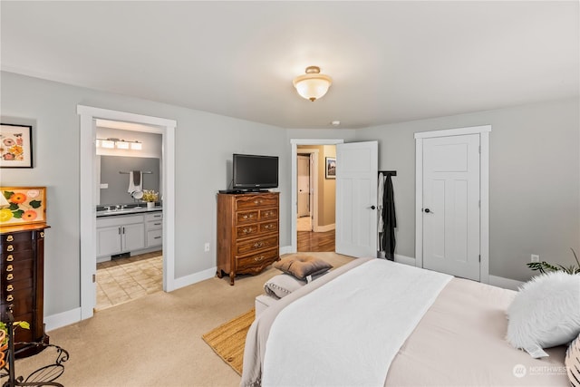
[[[402,343],[450,279],[380,259],[354,267],[278,314],[262,385],[382,386]],[[341,315],[356,316],[358,324]]]

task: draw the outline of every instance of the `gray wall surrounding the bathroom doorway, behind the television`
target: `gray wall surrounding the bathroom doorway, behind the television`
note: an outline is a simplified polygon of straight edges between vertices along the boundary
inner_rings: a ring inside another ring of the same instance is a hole
[[[44,314],[80,306],[79,116],[77,104],[176,120],[176,277],[216,266],[216,193],[233,153],[280,158],[280,244],[290,243],[289,152],[284,129],[204,111],[1,73],[3,122],[32,124],[34,169],[2,169],[3,186],[47,187]],[[204,252],[204,243],[210,251]]]

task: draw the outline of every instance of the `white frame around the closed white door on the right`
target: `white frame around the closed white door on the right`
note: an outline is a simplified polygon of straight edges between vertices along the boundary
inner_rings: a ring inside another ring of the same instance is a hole
[[[491,125],[415,133],[415,266],[423,267],[423,140],[479,135],[479,282],[489,283],[489,132]]]

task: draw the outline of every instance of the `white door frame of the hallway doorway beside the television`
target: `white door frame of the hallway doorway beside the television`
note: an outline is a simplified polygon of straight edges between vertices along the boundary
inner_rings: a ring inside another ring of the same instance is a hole
[[[290,217],[292,219],[291,222],[291,229],[290,229],[290,251],[288,253],[295,253],[298,251],[298,237],[296,235],[296,214],[298,213],[298,196],[297,196],[297,189],[298,189],[298,162],[296,157],[298,156],[298,145],[336,145],[342,144],[344,142],[343,139],[290,139],[291,145],[291,154],[290,160],[292,161],[290,179],[291,183],[291,198],[290,198]],[[301,150],[303,151],[303,150]],[[306,153],[304,151],[304,153]],[[316,172],[317,173],[317,172]],[[317,194],[316,194],[317,195]],[[314,205],[315,215],[318,215],[317,209],[318,204]],[[316,218],[317,219],[317,218]],[[316,220],[317,221],[317,220]],[[313,218],[314,222],[314,218]]]

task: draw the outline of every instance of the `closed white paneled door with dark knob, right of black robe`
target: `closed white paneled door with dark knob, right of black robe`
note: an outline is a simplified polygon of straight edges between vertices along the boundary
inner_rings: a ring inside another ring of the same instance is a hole
[[[423,267],[480,279],[479,135],[423,140]]]

